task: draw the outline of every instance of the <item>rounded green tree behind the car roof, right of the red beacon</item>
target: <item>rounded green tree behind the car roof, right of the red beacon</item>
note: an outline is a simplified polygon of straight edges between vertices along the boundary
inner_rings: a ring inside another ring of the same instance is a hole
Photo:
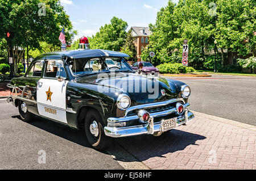
[[[92,36],[89,41],[91,48],[120,51],[125,43],[127,27],[127,22],[114,16],[110,24],[101,26],[100,32]]]

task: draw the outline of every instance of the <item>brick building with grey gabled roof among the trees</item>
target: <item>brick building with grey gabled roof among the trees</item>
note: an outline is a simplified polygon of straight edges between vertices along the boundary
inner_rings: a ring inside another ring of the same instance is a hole
[[[141,61],[141,52],[147,47],[151,32],[148,27],[131,27],[131,35],[135,37],[135,48],[137,51],[137,61]]]

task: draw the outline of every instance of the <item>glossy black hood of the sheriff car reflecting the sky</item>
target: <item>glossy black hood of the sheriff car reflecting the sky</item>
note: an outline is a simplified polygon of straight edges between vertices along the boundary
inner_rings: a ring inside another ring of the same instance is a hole
[[[102,73],[77,78],[77,83],[98,85],[98,91],[113,95],[127,94],[133,105],[160,102],[179,97],[184,83],[166,78],[146,77],[135,73]],[[178,82],[178,83],[177,83]]]

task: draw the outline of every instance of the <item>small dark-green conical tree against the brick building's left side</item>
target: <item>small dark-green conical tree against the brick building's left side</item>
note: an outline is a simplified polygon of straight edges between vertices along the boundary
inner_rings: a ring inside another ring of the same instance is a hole
[[[121,52],[128,54],[133,60],[135,60],[135,57],[137,55],[134,40],[135,37],[133,37],[133,35],[131,34],[131,30],[129,30],[125,39],[125,44],[121,48]]]

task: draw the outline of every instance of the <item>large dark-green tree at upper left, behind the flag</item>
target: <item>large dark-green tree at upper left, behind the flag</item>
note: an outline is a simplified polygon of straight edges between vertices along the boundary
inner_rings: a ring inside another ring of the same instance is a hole
[[[69,42],[76,32],[72,31],[69,16],[59,0],[0,1],[0,39],[7,40],[6,48],[14,62],[13,73],[18,69],[25,47],[40,49],[40,42],[60,47],[58,38],[63,26]],[[6,36],[7,32],[14,35],[13,39]]]

